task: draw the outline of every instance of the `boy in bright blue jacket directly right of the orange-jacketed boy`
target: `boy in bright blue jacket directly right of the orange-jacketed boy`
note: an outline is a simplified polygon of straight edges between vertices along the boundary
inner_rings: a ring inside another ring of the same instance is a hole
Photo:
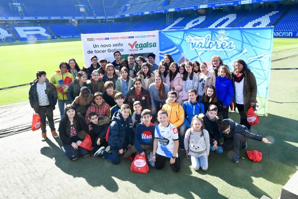
[[[180,149],[184,150],[184,136],[187,129],[190,128],[191,120],[193,116],[199,115],[204,112],[204,105],[197,101],[198,93],[195,89],[190,89],[188,92],[189,100],[185,101],[182,104],[184,110],[184,123],[179,127],[179,140],[180,140]]]

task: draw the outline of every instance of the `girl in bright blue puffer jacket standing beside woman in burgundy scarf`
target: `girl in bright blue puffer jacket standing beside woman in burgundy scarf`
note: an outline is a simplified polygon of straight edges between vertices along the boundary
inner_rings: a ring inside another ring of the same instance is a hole
[[[221,107],[223,108],[223,119],[229,118],[229,105],[235,97],[234,86],[230,77],[229,69],[225,66],[221,66],[215,81],[215,90],[217,98],[221,101]]]

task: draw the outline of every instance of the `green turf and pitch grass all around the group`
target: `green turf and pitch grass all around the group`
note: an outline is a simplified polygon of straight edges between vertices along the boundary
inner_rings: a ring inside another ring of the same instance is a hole
[[[35,79],[37,70],[49,76],[59,63],[73,57],[83,66],[81,41],[16,43],[0,45],[2,78],[0,88],[25,84]],[[288,50],[291,49],[291,50]],[[289,68],[298,62],[297,39],[274,39],[272,68]],[[290,56],[290,57],[289,57]],[[288,58],[286,58],[288,57]],[[296,66],[295,66],[296,67]],[[48,136],[39,141],[40,130],[0,137],[1,198],[278,198],[282,187],[298,169],[298,75],[297,70],[272,70],[267,117],[252,132],[272,144],[248,142],[248,150],[263,152],[261,162],[240,159],[232,163],[232,151],[210,152],[207,172],[194,171],[181,156],[181,170],[169,166],[150,168],[148,174],[131,173],[130,162],[119,165],[93,157],[72,162],[61,151],[60,139]],[[293,88],[294,87],[294,88]],[[0,104],[28,100],[29,86],[0,91]],[[0,117],[1,117],[0,113]],[[229,117],[239,122],[238,113]],[[56,129],[58,123],[55,124]],[[13,143],[13,146],[12,144]],[[181,154],[181,155],[180,155]],[[245,150],[240,149],[240,156]]]

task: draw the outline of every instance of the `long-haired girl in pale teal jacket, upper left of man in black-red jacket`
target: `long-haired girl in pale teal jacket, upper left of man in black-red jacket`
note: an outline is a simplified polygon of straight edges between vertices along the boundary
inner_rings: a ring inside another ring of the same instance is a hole
[[[129,76],[129,71],[126,67],[122,67],[120,71],[120,77],[118,77],[115,90],[123,93],[126,97],[127,92],[134,86],[134,79]]]

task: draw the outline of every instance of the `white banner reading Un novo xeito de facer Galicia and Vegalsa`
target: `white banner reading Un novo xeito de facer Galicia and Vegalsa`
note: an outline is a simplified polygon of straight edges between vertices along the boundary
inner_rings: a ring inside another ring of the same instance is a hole
[[[144,56],[149,53],[156,55],[155,63],[159,64],[159,31],[81,34],[85,67],[91,65],[91,56],[98,59],[106,58],[113,62],[114,52],[120,51],[121,59],[129,54]]]

